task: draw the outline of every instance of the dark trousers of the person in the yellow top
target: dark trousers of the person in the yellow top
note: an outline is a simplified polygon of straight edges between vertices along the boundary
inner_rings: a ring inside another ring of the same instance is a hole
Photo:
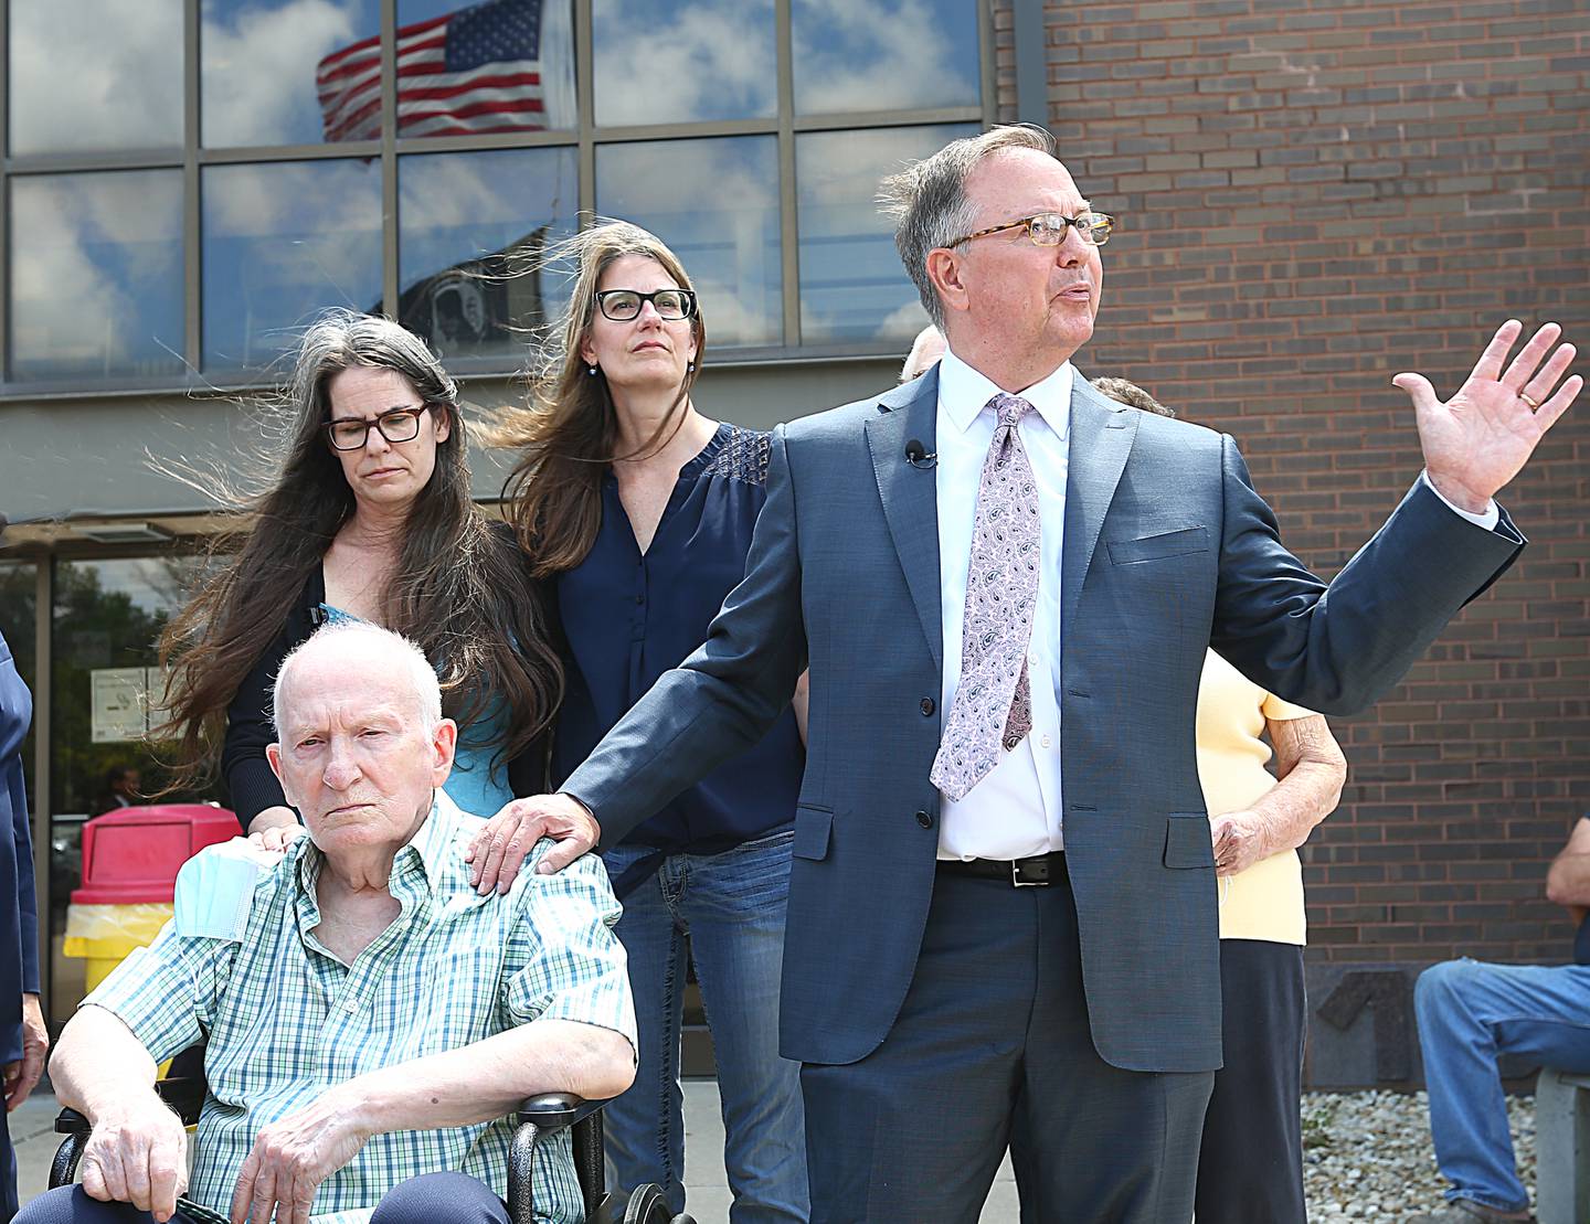
[[[1304,1224],[1302,949],[1220,941],[1226,1065],[1204,1117],[1197,1224]]]

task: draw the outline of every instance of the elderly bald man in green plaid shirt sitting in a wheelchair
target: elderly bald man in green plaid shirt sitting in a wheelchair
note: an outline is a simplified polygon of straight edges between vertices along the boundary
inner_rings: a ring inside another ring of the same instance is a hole
[[[456,728],[420,650],[326,626],[283,663],[275,720],[270,765],[308,836],[280,862],[245,842],[189,862],[172,922],[84,1000],[51,1063],[92,1124],[83,1181],[19,1224],[507,1224],[509,1116],[633,1079],[606,871],[585,858],[475,893],[480,820],[439,790]],[[154,1083],[199,1041],[189,1179]],[[515,1221],[585,1219],[566,1132],[531,1191]]]

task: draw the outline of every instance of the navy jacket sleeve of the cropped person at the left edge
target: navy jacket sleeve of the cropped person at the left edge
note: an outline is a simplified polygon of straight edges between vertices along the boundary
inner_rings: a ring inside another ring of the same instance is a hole
[[[22,1057],[22,994],[38,992],[33,841],[22,790],[22,739],[33,695],[0,634],[0,1062]]]

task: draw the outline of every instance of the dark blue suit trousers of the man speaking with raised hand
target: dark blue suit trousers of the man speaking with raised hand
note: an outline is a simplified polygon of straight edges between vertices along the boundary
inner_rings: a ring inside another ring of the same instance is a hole
[[[1026,1224],[1186,1221],[1210,1081],[1094,1051],[1064,876],[940,871],[889,1036],[801,1067],[812,1222],[975,1224],[1006,1148]]]

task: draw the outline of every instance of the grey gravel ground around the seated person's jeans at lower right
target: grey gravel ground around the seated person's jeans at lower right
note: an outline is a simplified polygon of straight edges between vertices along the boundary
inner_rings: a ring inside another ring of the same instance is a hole
[[[1509,1097],[1507,1111],[1533,1200],[1534,1098]],[[1445,1202],[1423,1092],[1307,1092],[1302,1146],[1310,1224],[1406,1221]]]

